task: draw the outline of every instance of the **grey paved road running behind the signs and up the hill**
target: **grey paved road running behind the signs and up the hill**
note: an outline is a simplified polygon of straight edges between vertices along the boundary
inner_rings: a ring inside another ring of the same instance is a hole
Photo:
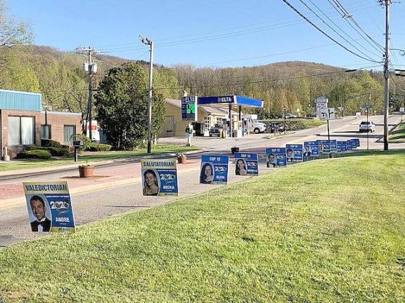
[[[400,116],[390,116],[390,124],[398,123]],[[366,137],[364,133],[359,133],[359,123],[364,120],[364,117],[349,117],[342,120],[335,120],[330,122],[331,137],[338,140],[347,140],[352,137],[359,137],[361,140],[361,148],[366,148]],[[377,140],[383,134],[383,116],[371,116],[371,121],[377,124],[376,132],[369,135],[370,148],[382,149],[383,143]],[[326,126],[313,128],[309,130],[300,130],[296,133],[286,135],[283,137],[274,137],[268,135],[255,135],[251,136],[248,140],[235,140],[236,144],[241,150],[255,150],[264,152],[264,147],[281,147],[285,143],[303,142],[304,140],[316,140],[327,137]],[[183,140],[183,139],[177,139]],[[193,142],[200,144],[205,149],[216,150],[216,152],[229,152],[229,148],[233,145],[231,140],[219,139],[198,139]],[[172,140],[173,142],[173,140]],[[205,145],[204,145],[205,144]],[[392,148],[405,148],[405,144],[391,144]],[[198,194],[203,191],[209,191],[212,188],[217,188],[217,185],[199,184],[198,170],[200,154],[190,156],[193,163],[188,164],[188,169],[179,171],[179,188],[181,191],[180,196],[190,196]],[[117,173],[120,170],[129,169],[129,167],[137,167],[139,163],[127,161],[126,163],[113,163],[111,166],[105,166],[102,171]],[[231,166],[232,167],[232,166]],[[269,173],[269,170],[264,168],[261,164],[261,173]],[[76,175],[74,172],[63,171],[54,172],[46,176],[34,177],[21,177],[17,180],[3,180],[0,184],[7,187],[7,184],[15,184],[15,182],[34,181],[34,180],[57,180],[59,178],[66,178]],[[229,174],[230,182],[243,180],[244,177],[235,176],[231,168]],[[5,187],[4,187],[5,188]],[[75,218],[77,224],[86,224],[95,220],[101,220],[111,215],[118,215],[134,210],[142,210],[151,208],[172,201],[174,198],[168,197],[144,197],[141,196],[141,182],[133,182],[122,186],[110,187],[108,189],[98,189],[89,191],[82,194],[73,194],[72,200],[75,203]],[[18,205],[11,208],[0,209],[0,246],[11,245],[27,238],[34,238],[36,235],[30,231],[30,226],[27,222],[27,209],[25,205]]]

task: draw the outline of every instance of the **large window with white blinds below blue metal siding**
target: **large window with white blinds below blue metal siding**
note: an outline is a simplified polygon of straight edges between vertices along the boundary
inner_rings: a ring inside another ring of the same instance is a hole
[[[34,144],[34,117],[8,116],[8,144]]]

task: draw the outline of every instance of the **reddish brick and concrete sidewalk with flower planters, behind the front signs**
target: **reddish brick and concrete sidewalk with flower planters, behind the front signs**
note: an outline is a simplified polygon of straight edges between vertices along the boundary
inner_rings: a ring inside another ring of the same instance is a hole
[[[142,157],[145,158],[145,157]],[[75,166],[77,167],[77,166]],[[200,170],[200,160],[188,160],[186,164],[177,164],[179,175]],[[127,163],[125,166],[96,167],[94,176],[79,178],[78,171],[66,171],[52,178],[56,181],[68,181],[70,194],[79,194],[99,189],[108,189],[125,184],[141,183],[141,164]],[[43,176],[33,176],[31,182],[44,181]],[[0,209],[13,208],[25,204],[22,182],[0,184]]]

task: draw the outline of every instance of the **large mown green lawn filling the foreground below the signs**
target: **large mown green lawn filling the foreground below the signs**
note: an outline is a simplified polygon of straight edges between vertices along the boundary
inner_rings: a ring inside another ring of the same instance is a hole
[[[311,161],[3,248],[0,302],[405,302],[404,172]]]

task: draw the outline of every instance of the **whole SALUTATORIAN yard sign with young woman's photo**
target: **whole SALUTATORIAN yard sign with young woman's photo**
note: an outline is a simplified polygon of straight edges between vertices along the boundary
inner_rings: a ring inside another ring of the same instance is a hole
[[[175,159],[142,159],[143,196],[178,196]]]

